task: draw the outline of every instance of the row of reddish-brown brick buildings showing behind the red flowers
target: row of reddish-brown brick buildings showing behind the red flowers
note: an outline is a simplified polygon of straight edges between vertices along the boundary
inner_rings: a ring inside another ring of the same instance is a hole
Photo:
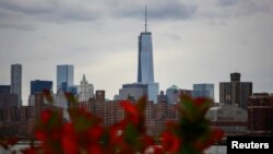
[[[130,100],[135,104],[134,100]],[[103,125],[109,127],[124,118],[124,111],[119,105],[120,100],[107,100],[105,91],[96,91],[95,96],[87,102],[79,102],[79,107],[93,112],[104,119]],[[68,108],[68,106],[66,106]],[[0,108],[0,137],[17,135],[19,138],[31,139],[33,126],[40,112],[45,109],[57,110],[63,115],[63,120],[69,120],[66,108],[59,104],[49,104],[43,93],[35,93],[34,104],[20,107]],[[165,129],[167,121],[177,121],[178,111],[176,105],[166,102],[154,104],[147,102],[145,109],[145,126],[147,133],[154,137],[159,135]]]

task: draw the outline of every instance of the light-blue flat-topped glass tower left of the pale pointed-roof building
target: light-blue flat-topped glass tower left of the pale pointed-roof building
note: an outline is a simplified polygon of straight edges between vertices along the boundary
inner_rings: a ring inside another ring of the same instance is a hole
[[[57,91],[74,84],[74,67],[72,64],[57,66]]]

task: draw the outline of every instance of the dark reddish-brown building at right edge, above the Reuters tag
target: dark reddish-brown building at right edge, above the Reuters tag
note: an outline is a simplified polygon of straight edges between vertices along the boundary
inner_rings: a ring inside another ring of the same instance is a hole
[[[248,131],[252,135],[273,134],[273,95],[257,93],[248,105]]]

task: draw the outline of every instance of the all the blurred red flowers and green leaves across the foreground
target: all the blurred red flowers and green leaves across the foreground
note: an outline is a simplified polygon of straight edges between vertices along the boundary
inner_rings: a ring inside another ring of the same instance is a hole
[[[50,93],[45,92],[45,96],[54,104]],[[212,105],[206,98],[181,96],[177,104],[179,120],[166,123],[157,145],[144,126],[146,97],[135,104],[120,102],[126,116],[111,127],[104,127],[103,119],[78,108],[73,95],[68,93],[66,97],[71,103],[70,120],[63,121],[61,112],[44,110],[35,128],[35,138],[41,144],[31,144],[22,150],[24,154],[202,154],[224,135],[223,131],[211,129],[205,119]],[[15,143],[16,139],[0,140],[5,149]]]

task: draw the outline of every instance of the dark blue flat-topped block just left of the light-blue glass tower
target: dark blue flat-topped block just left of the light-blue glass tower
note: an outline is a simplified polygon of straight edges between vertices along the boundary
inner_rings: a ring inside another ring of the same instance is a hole
[[[35,93],[44,90],[52,91],[52,81],[31,81],[31,95],[35,95]]]

